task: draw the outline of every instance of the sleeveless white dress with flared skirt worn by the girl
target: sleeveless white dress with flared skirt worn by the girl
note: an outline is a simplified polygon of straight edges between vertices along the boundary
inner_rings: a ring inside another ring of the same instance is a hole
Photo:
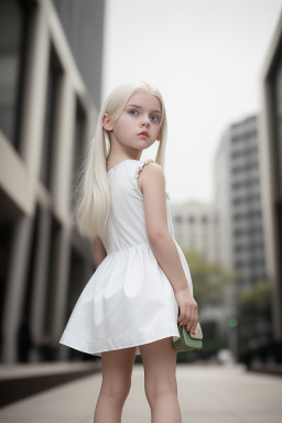
[[[140,355],[140,345],[180,338],[178,305],[151,249],[143,195],[137,183],[149,162],[153,160],[124,160],[107,173],[111,209],[101,236],[107,257],[77,300],[59,344],[94,356],[129,347],[137,347],[135,355]],[[165,194],[169,230],[193,294],[189,268],[174,238]]]

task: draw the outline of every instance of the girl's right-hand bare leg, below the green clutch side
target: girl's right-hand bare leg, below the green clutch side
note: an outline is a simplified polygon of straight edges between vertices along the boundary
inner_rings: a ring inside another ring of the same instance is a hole
[[[182,423],[172,337],[140,345],[152,423]]]

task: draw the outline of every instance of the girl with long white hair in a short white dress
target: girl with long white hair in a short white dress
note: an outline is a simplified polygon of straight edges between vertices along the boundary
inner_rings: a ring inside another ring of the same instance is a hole
[[[101,357],[95,423],[121,422],[137,355],[152,422],[182,421],[173,341],[177,322],[195,333],[198,312],[167,205],[165,140],[160,91],[147,83],[117,87],[100,111],[78,185],[75,217],[94,239],[97,270],[59,343]],[[155,162],[141,161],[155,141]]]

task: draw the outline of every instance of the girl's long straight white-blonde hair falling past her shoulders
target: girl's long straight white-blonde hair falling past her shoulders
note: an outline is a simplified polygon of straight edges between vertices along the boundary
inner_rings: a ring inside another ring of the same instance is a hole
[[[78,185],[74,193],[73,223],[76,223],[80,235],[91,240],[102,234],[110,213],[110,189],[106,166],[110,139],[109,132],[102,127],[102,118],[105,113],[108,113],[113,122],[117,121],[129,98],[141,91],[152,94],[161,102],[162,117],[158,137],[160,144],[154,161],[164,169],[167,123],[161,93],[144,82],[119,85],[110,93],[100,110],[95,137],[87,145],[78,173]]]

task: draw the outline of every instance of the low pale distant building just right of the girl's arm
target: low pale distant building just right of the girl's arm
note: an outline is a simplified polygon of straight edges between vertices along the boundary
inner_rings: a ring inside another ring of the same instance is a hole
[[[207,261],[219,259],[218,218],[212,204],[185,202],[170,206],[174,235],[184,250],[194,250]]]

